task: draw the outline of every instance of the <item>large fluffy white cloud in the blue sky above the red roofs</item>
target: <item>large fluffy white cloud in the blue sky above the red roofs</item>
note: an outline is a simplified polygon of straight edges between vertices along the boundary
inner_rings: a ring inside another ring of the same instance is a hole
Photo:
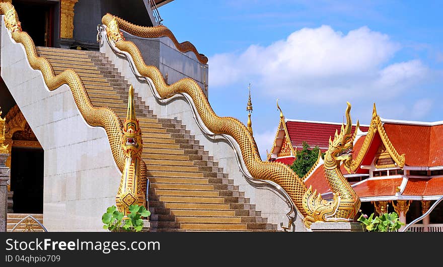
[[[330,26],[304,28],[269,46],[209,59],[213,90],[254,81],[255,92],[317,104],[361,100],[382,93],[393,98],[428,74],[419,60],[386,66],[400,49],[389,36],[367,27],[347,34]]]

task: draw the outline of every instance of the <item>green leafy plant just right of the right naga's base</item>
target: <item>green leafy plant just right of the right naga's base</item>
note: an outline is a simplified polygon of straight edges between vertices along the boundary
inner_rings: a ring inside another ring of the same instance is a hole
[[[405,225],[400,222],[396,212],[384,213],[376,217],[374,217],[374,213],[369,217],[366,214],[361,214],[357,221],[361,222],[361,225],[369,232],[394,232]]]

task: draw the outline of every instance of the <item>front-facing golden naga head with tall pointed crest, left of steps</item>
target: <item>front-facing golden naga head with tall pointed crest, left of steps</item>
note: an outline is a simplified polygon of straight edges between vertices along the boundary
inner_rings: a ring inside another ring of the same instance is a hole
[[[134,87],[129,87],[128,113],[123,125],[123,150],[130,158],[141,158],[143,142],[141,140],[141,129],[135,118]]]

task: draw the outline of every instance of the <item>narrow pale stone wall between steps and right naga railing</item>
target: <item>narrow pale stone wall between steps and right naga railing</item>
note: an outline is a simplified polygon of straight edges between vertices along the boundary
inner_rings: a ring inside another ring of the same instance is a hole
[[[269,223],[277,224],[278,229],[281,229],[281,222],[286,226],[288,222],[286,213],[289,212],[289,208],[285,202],[273,192],[266,189],[256,189],[247,183],[239,170],[231,146],[226,141],[223,141],[221,137],[216,139],[206,137],[196,124],[191,108],[184,100],[175,99],[168,105],[158,103],[152,95],[149,85],[136,78],[129,62],[124,57],[116,55],[109,47],[105,38],[106,33],[102,32],[100,52],[105,53],[109,57],[112,64],[118,68],[129,84],[134,86],[135,92],[154,111],[154,114],[162,118],[177,118],[181,120],[186,125],[186,128],[191,131],[191,135],[194,135],[195,139],[199,140],[200,144],[204,146],[204,149],[209,151],[209,155],[214,157],[214,161],[218,162],[218,166],[223,167],[224,172],[229,173],[229,178],[234,180],[234,184],[239,186],[240,191],[245,192],[245,197],[250,198],[251,204],[256,204],[256,209],[262,212],[262,216],[267,217]],[[296,221],[296,231],[306,231],[301,219],[302,216],[299,214]]]

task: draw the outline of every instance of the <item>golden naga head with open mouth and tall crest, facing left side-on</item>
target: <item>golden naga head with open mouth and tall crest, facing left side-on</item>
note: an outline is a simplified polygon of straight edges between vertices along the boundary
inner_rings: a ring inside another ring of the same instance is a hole
[[[352,149],[354,147],[353,143],[359,127],[359,122],[357,121],[357,127],[352,134],[352,121],[349,115],[351,104],[349,104],[349,102],[346,103],[348,105],[346,108],[346,126],[344,124],[341,125],[340,133],[338,133],[337,130],[335,131],[334,140],[331,140],[331,137],[329,137],[328,153],[330,153],[332,158],[337,162],[337,165],[343,161],[344,167],[348,172],[350,172],[353,152]]]

